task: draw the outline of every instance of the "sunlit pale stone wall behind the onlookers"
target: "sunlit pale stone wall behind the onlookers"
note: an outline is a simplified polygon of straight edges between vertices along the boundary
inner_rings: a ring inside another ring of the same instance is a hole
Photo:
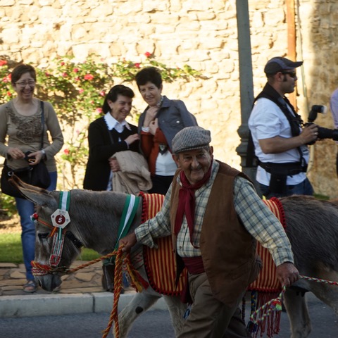
[[[296,8],[297,59],[304,60],[297,106],[306,119],[308,107],[328,105],[337,87],[338,3],[296,2],[300,4]],[[149,51],[169,66],[187,63],[200,70],[206,80],[165,84],[163,93],[182,99],[199,125],[211,130],[216,158],[240,168],[234,0],[0,0],[0,4],[0,55],[13,61],[49,65],[58,55],[72,53],[83,61],[94,53],[108,62],[120,58],[137,62]],[[286,0],[249,0],[255,94],[265,83],[265,62],[287,55],[286,11]],[[144,108],[139,94],[134,104],[139,111]],[[330,113],[317,122],[333,126]],[[338,196],[334,189],[336,145],[325,140],[312,148],[309,176],[315,191]]]

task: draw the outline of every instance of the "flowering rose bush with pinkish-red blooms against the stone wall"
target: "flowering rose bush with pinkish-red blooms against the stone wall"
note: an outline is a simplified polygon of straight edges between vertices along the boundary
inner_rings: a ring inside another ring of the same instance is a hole
[[[88,125],[102,113],[104,96],[113,87],[114,79],[132,82],[141,68],[151,65],[161,70],[165,82],[201,77],[189,65],[169,68],[156,61],[149,52],[144,56],[143,62],[123,59],[111,65],[97,61],[97,56],[89,56],[84,62],[74,61],[72,56],[63,56],[53,61],[55,67],[52,69],[36,68],[37,97],[51,102],[63,128],[65,149],[57,156],[57,159],[61,157],[64,160],[58,161],[58,170],[63,172],[63,187],[82,188],[82,174],[88,157]],[[11,100],[14,94],[6,60],[0,60],[0,94],[1,104]],[[137,111],[132,113],[137,114]]]

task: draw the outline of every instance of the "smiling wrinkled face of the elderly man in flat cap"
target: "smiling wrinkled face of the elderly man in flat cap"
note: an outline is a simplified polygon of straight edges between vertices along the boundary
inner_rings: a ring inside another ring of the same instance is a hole
[[[183,151],[177,154],[177,156],[174,155],[174,160],[184,171],[189,183],[196,184],[201,181],[208,172],[211,162],[213,161],[212,155],[213,147],[211,146],[209,149]]]

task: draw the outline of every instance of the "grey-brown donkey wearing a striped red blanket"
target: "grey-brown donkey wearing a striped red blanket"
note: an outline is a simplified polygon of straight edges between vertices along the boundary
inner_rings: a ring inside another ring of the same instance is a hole
[[[61,192],[47,192],[13,178],[20,192],[35,202],[39,219],[50,220],[58,209]],[[123,213],[126,194],[116,192],[91,192],[73,189],[71,192],[68,232],[90,249],[105,255],[113,251],[117,242],[118,224]],[[289,196],[280,199],[284,208],[287,236],[292,243],[294,261],[301,275],[338,282],[338,206],[330,201],[319,201],[311,196]],[[141,223],[142,207],[137,208],[130,232]],[[49,227],[36,226],[35,260],[49,264],[51,239]],[[59,265],[69,267],[79,255],[76,242],[66,238]],[[75,244],[74,244],[75,243]],[[144,267],[139,273],[146,278]],[[52,291],[61,284],[61,275],[49,274],[37,277],[43,289]],[[284,305],[289,316],[292,338],[306,338],[311,332],[305,292],[313,292],[338,315],[338,288],[330,284],[299,280],[284,294]],[[127,337],[132,322],[150,308],[159,298],[149,287],[135,294],[132,301],[119,315],[120,337]],[[185,306],[177,296],[164,296],[168,305],[175,334],[183,324]]]

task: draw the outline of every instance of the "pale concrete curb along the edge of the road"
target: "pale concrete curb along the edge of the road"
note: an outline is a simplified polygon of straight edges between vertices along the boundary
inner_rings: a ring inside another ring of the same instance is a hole
[[[132,300],[134,294],[121,294],[118,311]],[[35,317],[40,315],[67,315],[75,313],[111,312],[113,294],[32,294],[27,296],[0,296],[0,318]],[[163,298],[151,310],[167,310]]]

